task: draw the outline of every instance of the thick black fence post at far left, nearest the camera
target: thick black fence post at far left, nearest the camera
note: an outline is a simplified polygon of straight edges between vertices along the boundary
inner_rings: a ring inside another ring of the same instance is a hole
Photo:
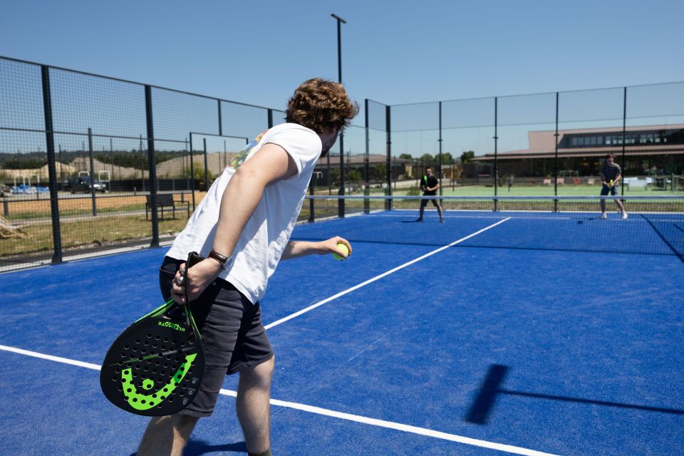
[[[57,169],[55,166],[55,136],[52,125],[52,95],[50,92],[50,68],[41,65],[43,83],[43,114],[45,115],[45,142],[48,152],[48,178],[50,186],[50,214],[52,217],[53,263],[62,262],[62,235],[59,224],[57,195]]]

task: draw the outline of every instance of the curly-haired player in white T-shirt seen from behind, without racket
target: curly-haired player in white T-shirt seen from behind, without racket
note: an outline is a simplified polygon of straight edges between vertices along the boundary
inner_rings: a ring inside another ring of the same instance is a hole
[[[338,252],[340,237],[289,242],[318,157],[358,113],[339,83],[315,78],[295,90],[286,121],[262,133],[214,181],[160,268],[162,294],[185,291],[202,332],[206,363],[195,400],[152,418],[139,456],[182,455],[197,420],[212,414],[224,375],[239,372],[237,417],[249,455],[269,456],[274,354],[259,299],[280,259]],[[183,279],[188,252],[203,257]],[[338,252],[341,254],[341,252]],[[346,255],[342,255],[346,257]],[[187,283],[185,281],[187,280]]]

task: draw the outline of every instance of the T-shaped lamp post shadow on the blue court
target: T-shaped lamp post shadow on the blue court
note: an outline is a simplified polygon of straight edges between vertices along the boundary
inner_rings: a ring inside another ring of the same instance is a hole
[[[492,366],[489,366],[489,371],[487,372],[487,376],[482,381],[480,391],[477,393],[475,400],[473,401],[472,405],[470,406],[470,409],[468,409],[467,415],[465,416],[465,420],[468,423],[473,423],[477,425],[487,424],[487,420],[489,420],[489,415],[492,414],[492,410],[494,409],[494,403],[496,403],[497,395],[499,394],[522,396],[524,398],[561,400],[565,402],[582,403],[590,405],[605,405],[608,407],[626,408],[631,410],[644,410],[646,412],[684,415],[684,410],[676,410],[671,408],[649,407],[647,405],[616,403],[606,400],[570,398],[567,396],[556,396],[548,394],[527,393],[524,391],[505,390],[504,388],[502,388],[502,384],[506,379],[508,370],[508,366],[502,366],[500,364],[492,364]]]

